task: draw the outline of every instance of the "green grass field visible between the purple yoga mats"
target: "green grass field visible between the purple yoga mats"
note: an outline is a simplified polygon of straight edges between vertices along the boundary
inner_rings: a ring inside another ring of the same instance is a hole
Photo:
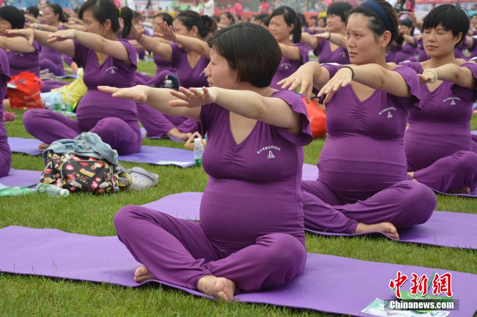
[[[154,72],[152,62],[142,62],[138,71]],[[7,123],[10,136],[31,137],[19,118]],[[477,116],[472,118],[476,126]],[[144,145],[181,148],[171,140],[144,140]],[[305,147],[306,163],[315,164],[324,139]],[[207,175],[201,168],[155,166],[124,163],[126,167],[143,166],[159,174],[159,185],[143,192],[120,192],[114,195],[72,195],[66,199],[42,195],[0,199],[0,228],[16,225],[32,228],[56,228],[80,234],[115,235],[113,217],[127,204],[144,204],[169,194],[203,191]],[[13,168],[42,170],[41,157],[13,154]],[[477,214],[477,200],[438,196],[436,210]],[[306,234],[308,252],[361,260],[434,267],[477,274],[477,252],[399,243],[381,237],[325,237]],[[1,316],[291,316],[326,314],[311,310],[268,305],[213,302],[161,286],[123,288],[108,284],[19,276],[0,273]],[[389,276],[393,278],[394,276]],[[389,280],[376,281],[389,283]],[[408,285],[408,284],[406,284]],[[358,287],[358,286],[357,286]],[[364,308],[364,307],[363,307]],[[452,316],[452,312],[451,312]]]

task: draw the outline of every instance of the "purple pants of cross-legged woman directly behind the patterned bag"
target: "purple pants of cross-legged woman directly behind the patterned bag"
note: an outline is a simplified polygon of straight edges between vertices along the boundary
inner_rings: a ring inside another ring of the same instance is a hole
[[[81,134],[80,123],[54,111],[31,109],[23,116],[26,131],[45,143],[62,138],[75,138]],[[125,121],[108,117],[98,120],[89,132],[96,133],[104,143],[118,151],[119,155],[137,153],[141,149],[142,138],[139,125],[137,129]]]

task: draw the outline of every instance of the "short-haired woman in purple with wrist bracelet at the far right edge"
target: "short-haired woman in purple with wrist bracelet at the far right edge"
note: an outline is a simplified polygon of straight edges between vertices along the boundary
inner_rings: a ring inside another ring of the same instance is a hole
[[[427,14],[423,28],[430,59],[401,63],[427,78],[422,111],[407,118],[407,171],[432,189],[468,194],[477,188],[477,143],[470,134],[477,65],[457,59],[454,48],[465,38],[469,20],[462,9],[441,5]]]

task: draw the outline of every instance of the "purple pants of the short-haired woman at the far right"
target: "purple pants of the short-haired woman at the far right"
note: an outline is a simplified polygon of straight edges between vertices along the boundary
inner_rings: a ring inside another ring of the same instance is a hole
[[[477,153],[458,151],[414,172],[414,178],[419,183],[440,192],[461,189],[465,186],[473,191],[477,188]]]

